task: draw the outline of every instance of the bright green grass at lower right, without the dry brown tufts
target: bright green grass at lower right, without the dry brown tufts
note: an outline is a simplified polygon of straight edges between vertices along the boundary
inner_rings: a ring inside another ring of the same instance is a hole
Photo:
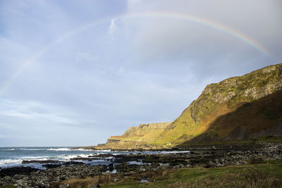
[[[282,183],[281,160],[256,165],[168,170],[166,175],[152,177],[148,183],[140,183],[134,177],[128,177],[119,184],[106,184],[102,187],[224,187],[236,184],[245,184],[246,187],[256,184],[260,187],[271,182]]]

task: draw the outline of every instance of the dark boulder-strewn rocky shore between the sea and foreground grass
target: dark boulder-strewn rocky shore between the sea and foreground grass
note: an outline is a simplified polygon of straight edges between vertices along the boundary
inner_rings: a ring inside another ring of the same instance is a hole
[[[234,149],[235,148],[235,149]],[[108,165],[87,165],[81,161],[91,161],[94,158],[106,158]],[[23,163],[47,163],[46,170],[30,167],[4,168],[0,170],[0,186],[14,185],[16,187],[68,187],[61,184],[63,180],[85,178],[102,175],[102,173],[140,175],[148,172],[164,171],[169,168],[217,168],[226,165],[242,165],[245,163],[262,163],[282,158],[282,144],[264,143],[255,148],[202,147],[190,149],[190,152],[179,153],[131,153],[113,155],[111,153],[89,156],[88,158],[73,158],[68,163],[61,161],[23,161]],[[80,160],[80,162],[75,161]],[[149,177],[147,177],[149,178]],[[118,181],[118,180],[115,180]]]

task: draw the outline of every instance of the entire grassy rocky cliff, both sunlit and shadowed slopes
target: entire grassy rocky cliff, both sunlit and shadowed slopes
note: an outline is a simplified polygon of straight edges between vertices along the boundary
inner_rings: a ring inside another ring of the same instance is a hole
[[[112,149],[282,136],[282,64],[209,84],[173,123],[141,124],[111,137]]]

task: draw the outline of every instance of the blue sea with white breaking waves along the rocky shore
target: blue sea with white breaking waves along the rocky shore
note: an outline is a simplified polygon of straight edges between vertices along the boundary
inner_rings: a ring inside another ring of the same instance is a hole
[[[44,170],[44,163],[22,163],[22,161],[71,161],[71,158],[87,158],[88,156],[97,156],[101,153],[130,154],[130,153],[179,153],[188,151],[111,151],[111,150],[91,150],[78,149],[75,147],[0,147],[0,168],[11,167],[32,167]],[[99,158],[93,161],[79,161],[90,165],[109,165],[112,163],[111,158]],[[140,163],[132,161],[132,163]]]

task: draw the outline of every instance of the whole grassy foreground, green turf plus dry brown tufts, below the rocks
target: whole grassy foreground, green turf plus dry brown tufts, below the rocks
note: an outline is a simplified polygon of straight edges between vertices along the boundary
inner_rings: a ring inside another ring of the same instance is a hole
[[[149,175],[149,182],[141,183],[140,178]],[[95,176],[86,179],[68,180],[73,187],[91,187],[102,182],[102,187],[281,187],[282,160],[264,161],[259,164],[227,166],[221,168],[181,168],[159,173],[137,173],[124,177],[118,183],[109,183],[111,176]],[[85,181],[87,180],[87,181]],[[89,184],[89,186],[86,184]],[[14,186],[0,186],[14,188]]]

